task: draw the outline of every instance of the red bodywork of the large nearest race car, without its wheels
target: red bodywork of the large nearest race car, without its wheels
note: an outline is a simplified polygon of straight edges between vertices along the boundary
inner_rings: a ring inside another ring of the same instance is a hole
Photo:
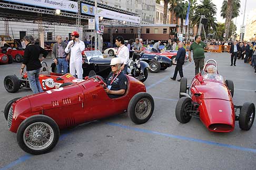
[[[9,130],[16,133],[26,118],[37,114],[51,117],[60,129],[65,129],[123,113],[136,93],[146,91],[139,80],[130,76],[127,79],[125,94],[116,99],[109,98],[102,85],[93,78],[72,86],[23,97],[13,103],[13,119]],[[103,103],[107,105],[107,109],[101,107]]]

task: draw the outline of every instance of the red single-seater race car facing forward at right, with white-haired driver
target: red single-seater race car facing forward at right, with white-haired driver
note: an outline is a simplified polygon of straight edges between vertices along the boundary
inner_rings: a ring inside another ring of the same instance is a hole
[[[188,123],[191,117],[199,118],[213,132],[231,132],[235,121],[239,121],[242,130],[250,130],[255,117],[254,104],[245,102],[240,106],[234,105],[232,80],[224,80],[217,69],[213,73],[214,68],[217,68],[216,61],[208,60],[204,70],[194,77],[190,86],[187,86],[186,78],[181,79],[176,119]],[[238,109],[240,114],[235,113]]]

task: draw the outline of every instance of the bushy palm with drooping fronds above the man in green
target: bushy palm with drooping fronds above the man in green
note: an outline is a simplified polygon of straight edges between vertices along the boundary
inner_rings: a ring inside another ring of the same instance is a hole
[[[199,26],[201,15],[204,15],[208,22],[205,25],[206,35],[208,33],[208,28],[213,28],[216,30],[216,15],[217,8],[216,5],[212,3],[211,0],[202,0],[202,4],[196,6],[194,16],[191,18],[191,24],[193,26]],[[205,37],[206,38],[206,37]]]

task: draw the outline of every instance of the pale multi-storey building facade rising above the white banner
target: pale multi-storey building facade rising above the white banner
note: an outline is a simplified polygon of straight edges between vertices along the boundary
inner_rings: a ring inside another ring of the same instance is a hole
[[[155,0],[101,0],[98,2],[139,14],[141,24],[155,23]]]

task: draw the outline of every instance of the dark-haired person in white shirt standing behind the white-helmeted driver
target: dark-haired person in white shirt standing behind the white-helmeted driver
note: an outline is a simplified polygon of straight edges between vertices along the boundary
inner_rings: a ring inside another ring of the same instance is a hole
[[[119,47],[119,49],[117,50],[117,57],[119,57],[123,62],[121,66],[121,70],[125,75],[127,75],[127,62],[129,60],[129,48],[127,48],[124,45],[124,38],[121,36],[117,36],[115,38],[115,45]]]

